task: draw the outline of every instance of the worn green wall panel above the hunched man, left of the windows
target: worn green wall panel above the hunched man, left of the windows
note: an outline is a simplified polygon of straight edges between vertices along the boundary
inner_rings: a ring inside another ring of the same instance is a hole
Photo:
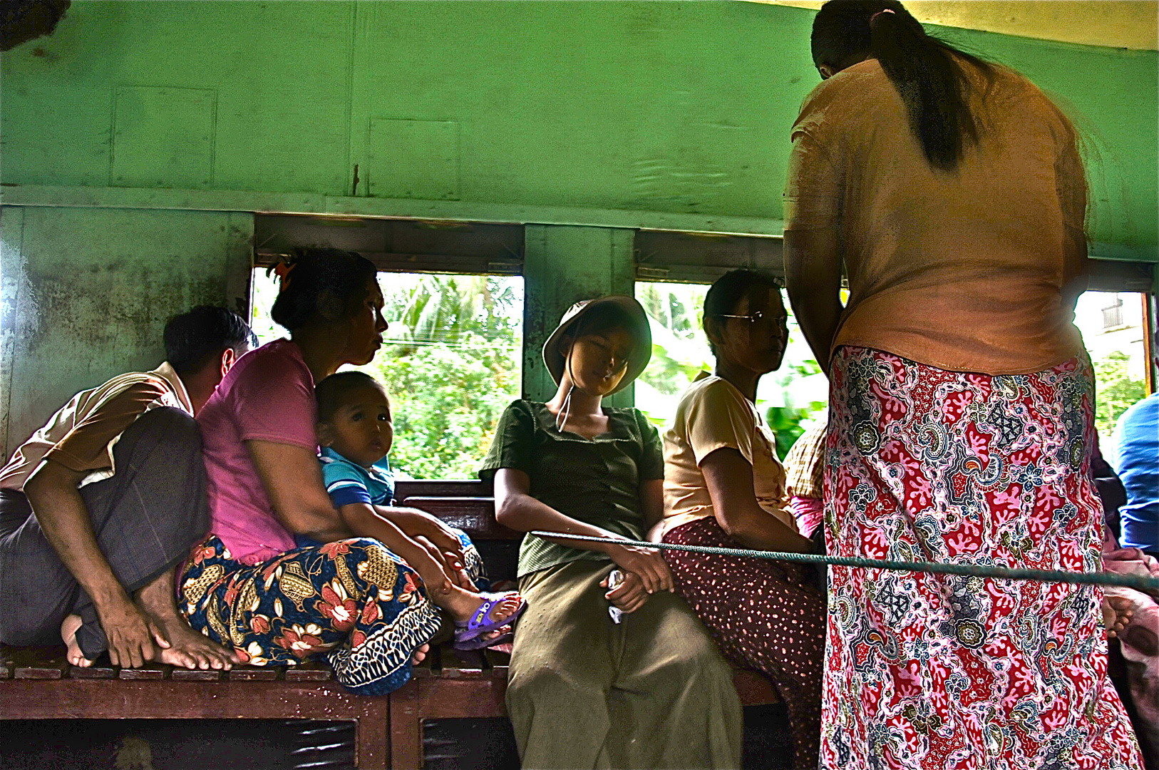
[[[253,216],[3,208],[3,452],[73,393],[156,366],[199,304],[245,312]]]

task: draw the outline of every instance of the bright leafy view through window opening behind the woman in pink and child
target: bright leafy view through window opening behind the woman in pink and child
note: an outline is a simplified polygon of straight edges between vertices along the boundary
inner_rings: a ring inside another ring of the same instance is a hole
[[[394,416],[391,465],[402,479],[471,479],[500,414],[519,397],[523,277],[379,273],[391,325],[362,371],[386,386]],[[253,327],[261,342],[283,336],[270,320],[277,278],[253,275]]]

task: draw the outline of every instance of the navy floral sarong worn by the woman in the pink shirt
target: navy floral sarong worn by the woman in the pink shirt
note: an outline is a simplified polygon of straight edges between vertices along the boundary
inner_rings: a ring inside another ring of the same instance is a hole
[[[467,574],[486,588],[479,552],[457,533]],[[245,663],[293,666],[318,656],[360,695],[406,684],[411,655],[439,627],[418,573],[371,538],[302,542],[245,565],[210,535],[185,562],[177,605],[194,629]]]

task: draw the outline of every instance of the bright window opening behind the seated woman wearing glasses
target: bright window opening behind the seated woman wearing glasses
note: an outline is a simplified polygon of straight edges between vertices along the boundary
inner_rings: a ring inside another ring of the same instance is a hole
[[[636,299],[644,306],[653,332],[653,358],[636,380],[636,408],[663,429],[676,414],[680,394],[714,359],[701,329],[707,284],[636,281]],[[824,419],[829,380],[821,373],[789,311],[789,344],[781,368],[761,378],[757,407],[777,435],[783,458],[815,420]]]

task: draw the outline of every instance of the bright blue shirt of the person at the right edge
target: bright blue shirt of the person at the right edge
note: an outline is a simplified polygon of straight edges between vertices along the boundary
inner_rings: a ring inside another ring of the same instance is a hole
[[[1159,365],[1159,332],[1152,357]],[[1118,509],[1120,543],[1159,558],[1159,393],[1118,417],[1115,456],[1115,471],[1127,488],[1127,504]]]

